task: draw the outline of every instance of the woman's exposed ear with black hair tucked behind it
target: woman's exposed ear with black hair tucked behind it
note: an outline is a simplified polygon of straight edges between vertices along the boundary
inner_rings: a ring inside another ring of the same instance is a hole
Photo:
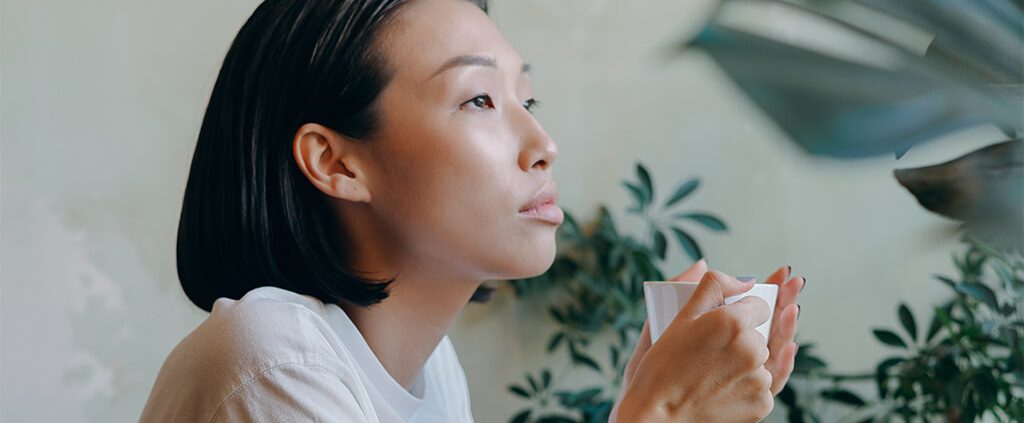
[[[295,163],[313,186],[333,198],[369,203],[370,189],[357,145],[321,124],[307,123],[295,132]]]

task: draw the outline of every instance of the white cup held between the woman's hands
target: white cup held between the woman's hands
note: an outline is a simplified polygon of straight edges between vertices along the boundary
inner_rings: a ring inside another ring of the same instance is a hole
[[[647,323],[650,325],[650,340],[656,342],[657,338],[665,333],[673,319],[679,310],[683,309],[686,302],[693,296],[697,289],[696,282],[663,282],[650,281],[643,283],[644,300],[647,304]],[[725,299],[725,304],[732,304],[741,298],[749,296],[759,297],[768,303],[775,313],[775,299],[778,297],[778,286],[774,284],[755,284],[754,288],[739,295],[734,295]],[[768,322],[757,328],[765,339],[768,339],[771,330],[771,321],[774,316],[769,316]]]

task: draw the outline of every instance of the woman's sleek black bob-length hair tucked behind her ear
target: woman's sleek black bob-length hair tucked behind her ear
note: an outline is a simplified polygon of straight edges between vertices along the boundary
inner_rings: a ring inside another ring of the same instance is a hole
[[[200,308],[262,286],[329,303],[387,298],[393,279],[349,268],[338,217],[299,171],[292,141],[310,122],[354,140],[375,132],[375,101],[391,79],[379,36],[408,1],[267,0],[239,31],[203,118],[178,222],[178,279]],[[470,1],[486,11],[486,0]]]

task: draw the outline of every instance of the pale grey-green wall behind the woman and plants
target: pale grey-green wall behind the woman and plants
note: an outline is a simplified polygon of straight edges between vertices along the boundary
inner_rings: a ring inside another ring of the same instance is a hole
[[[177,218],[214,79],[258,2],[0,4],[0,420],[135,421],[164,358],[206,315],[176,279]],[[659,203],[699,178],[685,208],[728,226],[689,226],[711,266],[763,279],[792,265],[808,278],[799,340],[833,372],[873,372],[893,346],[872,328],[896,328],[900,303],[927,327],[950,297],[933,274],[956,276],[951,256],[962,250],[958,223],[923,208],[893,169],[944,162],[1007,132],[972,122],[898,160],[808,154],[721,61],[681,49],[717,4],[493,0],[492,15],[534,65],[566,211],[583,224],[606,205],[618,230],[644,238],[644,219],[626,211],[636,195],[621,183],[637,178],[637,163]],[[932,41],[904,35],[908,50]],[[669,240],[658,265],[671,277],[693,259]],[[477,421],[530,407],[508,388],[528,384],[524,373],[551,369],[573,389],[600,383],[547,351],[559,329],[541,300],[495,286],[451,333]],[[877,396],[869,382],[849,389]],[[786,418],[778,405],[770,421]]]

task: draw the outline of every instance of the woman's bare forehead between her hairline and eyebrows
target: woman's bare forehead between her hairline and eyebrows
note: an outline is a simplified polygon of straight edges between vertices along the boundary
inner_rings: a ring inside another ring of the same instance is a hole
[[[521,64],[494,22],[467,0],[409,2],[385,30],[382,47],[395,77],[421,80],[460,55],[492,56],[516,73]]]

